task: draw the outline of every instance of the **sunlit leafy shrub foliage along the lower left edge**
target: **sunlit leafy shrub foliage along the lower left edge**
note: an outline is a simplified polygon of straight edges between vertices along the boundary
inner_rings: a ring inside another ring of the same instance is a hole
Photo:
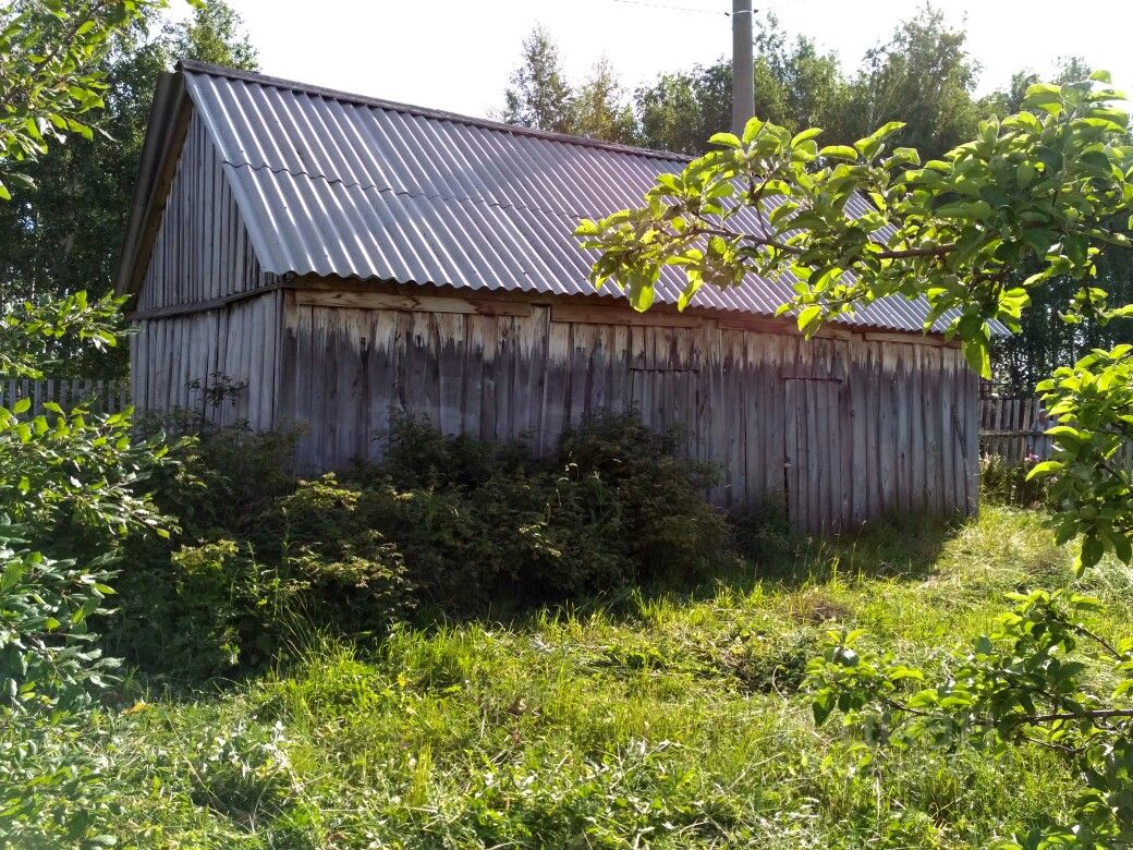
[[[32,342],[7,350],[12,373],[36,374],[44,335],[113,345],[110,306],[80,301],[0,318],[9,340]],[[77,847],[105,828],[109,805],[99,762],[77,741],[113,668],[88,623],[107,613],[116,542],[163,530],[140,486],[164,449],[135,442],[128,413],[44,407],[0,408],[0,833]]]

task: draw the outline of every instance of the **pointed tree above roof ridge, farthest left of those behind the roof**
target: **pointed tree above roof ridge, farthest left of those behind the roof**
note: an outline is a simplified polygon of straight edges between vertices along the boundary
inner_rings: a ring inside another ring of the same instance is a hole
[[[559,49],[543,27],[536,27],[523,40],[521,63],[504,92],[503,120],[537,130],[572,133],[573,101]]]

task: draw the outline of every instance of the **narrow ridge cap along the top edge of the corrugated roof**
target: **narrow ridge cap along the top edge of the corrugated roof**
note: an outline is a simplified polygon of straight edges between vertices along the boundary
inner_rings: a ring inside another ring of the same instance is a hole
[[[317,86],[309,83],[300,83],[295,79],[272,77],[257,71],[247,71],[238,68],[229,68],[223,65],[198,62],[194,59],[179,60],[177,62],[177,69],[180,71],[188,71],[190,74],[205,74],[213,77],[227,77],[229,79],[239,79],[247,83],[257,83],[259,85],[272,86],[274,88],[288,88],[292,92],[313,94],[320,97],[330,97],[332,100],[357,103],[359,105],[376,107],[377,109],[387,109],[394,112],[407,112],[409,114],[420,116],[423,118],[433,118],[441,121],[467,124],[472,127],[483,127],[485,129],[499,130],[501,133],[510,133],[516,136],[530,136],[533,138],[540,138],[547,142],[560,142],[562,144],[579,145],[581,147],[596,147],[602,151],[625,153],[636,156],[648,156],[670,162],[691,162],[693,159],[687,154],[673,153],[672,151],[658,151],[651,147],[623,145],[616,142],[602,142],[587,136],[572,136],[566,133],[553,133],[551,130],[537,130],[530,127],[517,127],[516,125],[504,124],[503,121],[493,121],[488,118],[476,118],[474,116],[465,116],[459,112],[448,112],[445,110],[432,109],[429,107],[416,107],[411,103],[387,101],[366,94],[357,94],[338,88],[326,88],[324,86]]]

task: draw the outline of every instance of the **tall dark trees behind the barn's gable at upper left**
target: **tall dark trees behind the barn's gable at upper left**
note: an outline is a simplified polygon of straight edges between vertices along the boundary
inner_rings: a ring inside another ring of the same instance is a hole
[[[160,8],[144,5],[99,60],[103,107],[84,113],[90,137],[70,138],[26,162],[22,175],[34,185],[0,205],[0,301],[111,291],[153,92],[181,57],[255,68],[239,18],[221,0],[163,27]],[[60,367],[84,375],[121,374],[126,367],[118,352],[74,354]]]

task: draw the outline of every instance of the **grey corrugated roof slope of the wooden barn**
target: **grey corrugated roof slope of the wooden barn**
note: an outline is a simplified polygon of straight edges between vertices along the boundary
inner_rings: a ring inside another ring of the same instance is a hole
[[[572,232],[640,203],[685,158],[509,127],[182,62],[265,272],[595,295]],[[683,275],[666,269],[658,299]],[[599,295],[622,297],[613,289]],[[774,315],[791,281],[702,288],[693,304]],[[920,331],[928,305],[886,298],[840,317]]]

